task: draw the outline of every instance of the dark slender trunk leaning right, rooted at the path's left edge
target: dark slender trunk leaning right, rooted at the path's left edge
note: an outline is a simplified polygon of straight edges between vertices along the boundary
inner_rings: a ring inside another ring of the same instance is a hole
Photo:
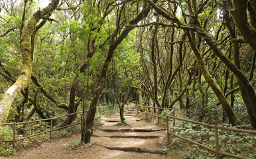
[[[143,18],[147,17],[147,14],[149,13],[150,8],[151,7],[149,7],[148,5],[144,5],[141,12],[134,19],[131,19],[131,21],[129,22],[129,26],[126,26],[121,32],[121,34],[117,37],[117,39],[113,40],[113,42],[111,42],[111,44],[109,45],[107,59],[105,60],[103,64],[103,69],[101,70],[101,78],[100,78],[99,84],[97,85],[96,90],[94,91],[94,98],[90,103],[90,109],[88,112],[88,117],[86,119],[86,128],[82,131],[82,138],[81,138],[82,143],[89,143],[91,140],[92,133],[94,132],[94,117],[96,115],[97,101],[105,85],[105,81],[107,78],[106,77],[107,68],[112,60],[115,48],[117,48],[117,46],[122,42],[122,40],[126,38],[126,36],[129,34],[129,32],[133,30],[135,26],[131,26],[131,25],[135,25],[139,23],[139,21],[141,21]]]

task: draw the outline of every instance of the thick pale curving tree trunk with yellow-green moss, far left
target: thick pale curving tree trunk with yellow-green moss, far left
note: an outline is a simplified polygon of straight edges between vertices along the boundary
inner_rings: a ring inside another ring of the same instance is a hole
[[[29,87],[29,82],[32,74],[32,54],[30,49],[30,38],[34,30],[36,29],[36,23],[42,17],[52,13],[54,9],[56,9],[58,5],[58,0],[52,0],[52,2],[45,7],[42,11],[36,11],[32,16],[31,20],[28,22],[27,26],[23,30],[23,34],[21,34],[20,39],[20,48],[21,55],[23,57],[23,68],[21,69],[21,75],[17,79],[17,81],[7,89],[7,91],[3,94],[0,101],[0,125],[2,125],[9,115],[9,110],[11,109],[11,105],[17,97],[18,93],[23,91]]]

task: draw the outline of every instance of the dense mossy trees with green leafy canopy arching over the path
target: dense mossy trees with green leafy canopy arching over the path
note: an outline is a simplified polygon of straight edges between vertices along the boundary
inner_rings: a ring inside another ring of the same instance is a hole
[[[256,129],[255,1],[39,4],[0,1],[1,125],[74,113],[86,102],[82,142],[90,142],[97,105],[121,110],[138,100]]]

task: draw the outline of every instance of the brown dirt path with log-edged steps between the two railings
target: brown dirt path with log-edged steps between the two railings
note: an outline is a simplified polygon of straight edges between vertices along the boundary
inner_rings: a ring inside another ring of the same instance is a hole
[[[162,154],[165,127],[135,117],[135,113],[125,112],[127,124],[118,123],[118,114],[103,117],[104,124],[96,127],[90,144],[78,146],[81,134],[77,133],[5,158],[182,158],[182,152]]]

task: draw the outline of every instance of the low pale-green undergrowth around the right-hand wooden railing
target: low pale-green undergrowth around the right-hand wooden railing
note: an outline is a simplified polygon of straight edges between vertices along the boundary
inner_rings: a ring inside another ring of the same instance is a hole
[[[170,111],[164,110],[160,113],[160,117],[166,117],[166,115]],[[137,115],[143,116],[146,115]],[[148,121],[153,121],[153,123],[157,125],[166,125],[165,119],[160,119],[160,123],[157,123],[156,117],[149,116]],[[172,121],[170,121],[169,126]],[[248,125],[239,125],[237,127],[233,127],[228,124],[219,125],[222,127],[231,127],[231,128],[243,128],[248,127]],[[189,138],[190,140],[194,140],[200,144],[204,144],[209,146],[210,148],[216,148],[215,141],[215,132],[214,129],[210,129],[208,127],[204,127],[202,125],[195,125],[193,123],[186,123],[184,121],[175,121],[175,126],[172,127],[171,132],[178,134],[179,136],[183,136],[185,138]],[[256,136],[255,134],[243,133],[243,132],[232,132],[232,131],[223,131],[218,130],[218,138],[220,150],[223,152],[228,152],[231,154],[236,154],[239,156],[244,156],[247,158],[256,158]],[[180,138],[170,135],[170,143],[167,143],[163,149],[164,154],[169,154],[173,158],[175,158],[175,153],[180,153],[181,158],[216,158],[216,154],[214,152],[210,152],[205,148],[201,148],[192,144],[190,142],[186,142]],[[224,156],[220,154],[220,158],[231,158],[228,156]]]

